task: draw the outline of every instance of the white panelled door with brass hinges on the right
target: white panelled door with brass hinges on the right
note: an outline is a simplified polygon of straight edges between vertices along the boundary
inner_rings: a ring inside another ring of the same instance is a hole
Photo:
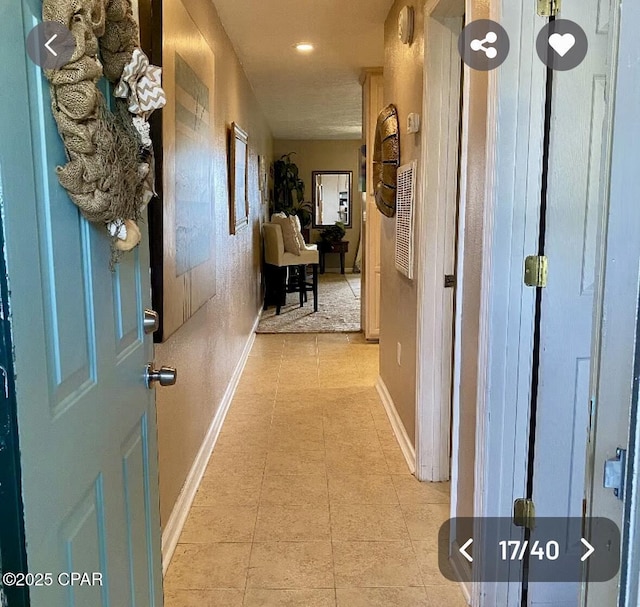
[[[611,5],[612,0],[565,0],[558,17],[585,30],[589,52],[577,68],[550,76],[540,251],[549,259],[549,277],[538,295],[539,364],[536,385],[534,354],[531,418],[535,446],[528,481],[537,517],[581,518],[583,513],[592,319],[609,174]],[[580,539],[570,538],[572,552],[583,552]],[[529,605],[575,607],[578,597],[577,582],[531,583],[528,588]]]

